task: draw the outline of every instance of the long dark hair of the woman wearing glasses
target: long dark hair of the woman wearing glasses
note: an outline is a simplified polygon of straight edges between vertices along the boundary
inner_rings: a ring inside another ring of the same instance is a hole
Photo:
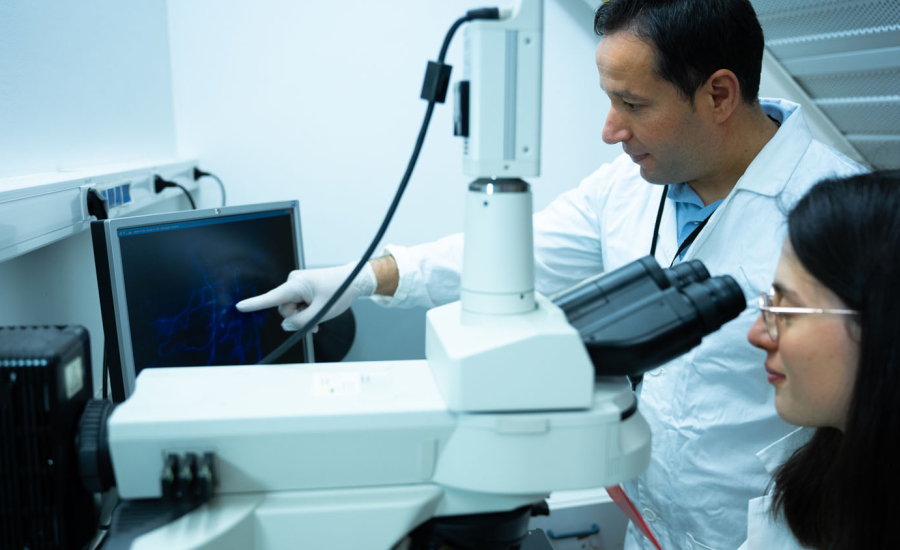
[[[859,325],[859,367],[846,430],[817,429],[778,470],[773,511],[811,548],[900,548],[900,173],[818,183],[788,235],[806,270],[860,312],[847,321]]]

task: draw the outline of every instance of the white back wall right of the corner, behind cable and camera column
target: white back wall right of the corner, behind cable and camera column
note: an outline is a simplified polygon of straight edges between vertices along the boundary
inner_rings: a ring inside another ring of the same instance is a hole
[[[452,22],[482,5],[170,1],[179,151],[218,173],[232,204],[299,199],[308,265],[355,259],[412,152],[426,63]],[[538,209],[620,151],[600,139],[609,103],[592,24],[583,2],[545,0],[543,175],[532,180]],[[447,55],[454,81],[461,54],[457,33]],[[387,242],[462,229],[469,178],[451,119],[452,103],[435,109]]]

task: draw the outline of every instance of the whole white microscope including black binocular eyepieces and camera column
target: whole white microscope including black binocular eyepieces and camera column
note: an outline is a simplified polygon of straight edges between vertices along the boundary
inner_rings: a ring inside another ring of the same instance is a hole
[[[551,491],[647,467],[625,375],[698,345],[745,299],[700,262],[650,257],[535,292],[523,178],[540,170],[543,2],[495,11],[464,29],[455,131],[475,179],[460,300],[427,313],[426,359],[143,370],[82,420],[79,471],[123,500],[110,544],[513,550]],[[156,519],[129,531],[138,516]]]

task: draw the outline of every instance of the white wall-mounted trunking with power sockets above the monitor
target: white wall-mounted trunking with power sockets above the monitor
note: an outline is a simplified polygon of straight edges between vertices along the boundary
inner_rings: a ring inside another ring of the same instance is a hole
[[[0,262],[86,229],[96,219],[88,214],[90,189],[107,198],[109,217],[131,216],[181,193],[156,193],[156,175],[195,191],[195,166],[193,159],[169,160],[0,179]]]

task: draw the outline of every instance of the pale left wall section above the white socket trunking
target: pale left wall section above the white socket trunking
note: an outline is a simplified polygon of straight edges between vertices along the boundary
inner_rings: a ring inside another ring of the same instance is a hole
[[[0,178],[174,153],[165,0],[0,2]]]

